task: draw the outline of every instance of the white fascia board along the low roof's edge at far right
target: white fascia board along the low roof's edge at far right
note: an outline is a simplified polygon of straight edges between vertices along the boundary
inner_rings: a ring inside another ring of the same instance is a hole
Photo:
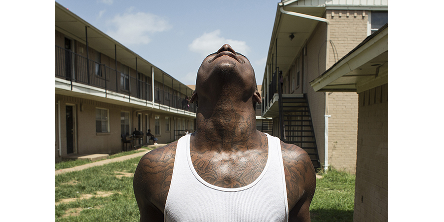
[[[348,55],[344,60],[340,61],[328,73],[314,79],[310,82],[315,92],[332,83],[334,80],[349,72],[359,68],[369,62],[374,57],[388,50],[388,29],[382,31],[359,47],[356,51]]]

